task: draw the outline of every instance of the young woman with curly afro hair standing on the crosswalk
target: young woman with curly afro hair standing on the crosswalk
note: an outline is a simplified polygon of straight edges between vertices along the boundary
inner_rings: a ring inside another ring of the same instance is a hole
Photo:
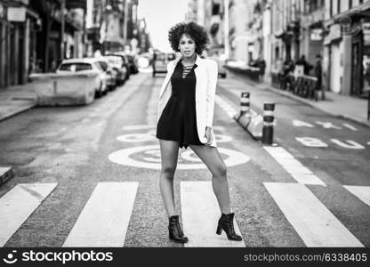
[[[179,147],[193,150],[213,175],[213,192],[221,209],[217,234],[225,231],[228,239],[240,241],[234,231],[229,199],[227,168],[213,134],[213,108],[217,83],[217,63],[200,58],[208,37],[205,29],[194,22],[179,23],[169,31],[169,41],[181,57],[167,66],[167,76],[159,93],[157,138],[162,171],[159,187],[169,217],[170,239],[186,243],[179,215],[175,214],[173,176]]]

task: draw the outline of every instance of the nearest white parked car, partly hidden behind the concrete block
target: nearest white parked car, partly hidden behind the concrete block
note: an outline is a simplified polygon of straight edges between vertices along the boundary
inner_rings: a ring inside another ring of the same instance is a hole
[[[106,72],[101,69],[101,64],[94,58],[70,59],[61,62],[57,69],[57,74],[68,74],[76,72],[97,72],[95,78],[95,95],[101,96],[107,91],[107,81],[109,79]]]

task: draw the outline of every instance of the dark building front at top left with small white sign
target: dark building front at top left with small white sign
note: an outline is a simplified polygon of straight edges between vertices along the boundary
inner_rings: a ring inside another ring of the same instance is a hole
[[[84,55],[84,0],[0,1],[0,88]]]

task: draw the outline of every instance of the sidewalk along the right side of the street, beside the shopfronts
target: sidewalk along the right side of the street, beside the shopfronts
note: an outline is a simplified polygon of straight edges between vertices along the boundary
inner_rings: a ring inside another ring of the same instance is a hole
[[[236,76],[245,77],[242,74],[235,73],[234,71],[230,69],[229,71],[232,72]],[[275,93],[285,95],[286,97],[292,98],[296,101],[301,101],[303,103],[306,103],[315,109],[319,109],[333,116],[349,118],[351,120],[357,121],[360,124],[370,126],[370,121],[367,120],[367,100],[366,99],[360,99],[360,98],[345,96],[345,95],[341,95],[337,93],[326,92],[325,101],[322,101],[322,100],[312,101],[309,99],[302,98],[293,93],[289,93],[284,90],[277,89],[271,86],[269,83],[263,82],[260,84],[256,84],[252,80],[250,80],[248,77],[245,77],[245,78],[247,78],[250,83],[252,83],[255,87],[259,89],[264,89],[264,90],[267,89]]]

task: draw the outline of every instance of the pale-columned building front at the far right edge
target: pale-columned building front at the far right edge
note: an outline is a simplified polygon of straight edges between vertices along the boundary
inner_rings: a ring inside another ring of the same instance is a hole
[[[370,1],[326,0],[326,86],[334,93],[363,96],[370,75]]]

